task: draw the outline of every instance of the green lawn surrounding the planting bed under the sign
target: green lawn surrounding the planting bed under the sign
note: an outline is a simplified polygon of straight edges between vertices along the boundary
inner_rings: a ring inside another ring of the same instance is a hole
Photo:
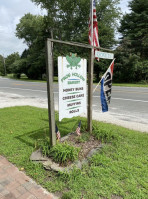
[[[58,114],[56,113],[56,121]],[[80,118],[56,122],[61,135],[76,129]],[[86,123],[81,118],[82,124]],[[35,107],[0,109],[0,154],[62,199],[146,199],[148,196],[148,134],[93,122],[103,149],[82,170],[46,171],[29,157],[36,142],[48,137],[48,112]]]

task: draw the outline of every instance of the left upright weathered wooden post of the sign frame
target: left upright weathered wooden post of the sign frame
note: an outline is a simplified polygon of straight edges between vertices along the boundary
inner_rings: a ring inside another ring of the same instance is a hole
[[[54,94],[53,94],[53,54],[52,42],[47,39],[46,42],[46,74],[47,74],[47,94],[48,94],[48,116],[49,116],[49,133],[50,144],[56,144],[55,133],[55,111],[54,111]]]

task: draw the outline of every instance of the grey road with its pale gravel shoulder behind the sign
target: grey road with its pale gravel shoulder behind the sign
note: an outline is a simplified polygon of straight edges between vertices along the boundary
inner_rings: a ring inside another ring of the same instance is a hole
[[[3,94],[3,98],[0,96],[1,108],[13,106],[14,101],[14,105],[29,104],[47,107],[46,83],[18,81],[0,77],[0,93]],[[16,96],[10,97],[11,101],[3,106],[8,101],[8,94],[15,94]],[[54,97],[55,108],[58,110],[58,84],[54,84]],[[21,100],[23,103],[21,103]],[[148,88],[113,86],[109,111],[102,113],[99,86],[93,94],[93,119],[148,132]]]

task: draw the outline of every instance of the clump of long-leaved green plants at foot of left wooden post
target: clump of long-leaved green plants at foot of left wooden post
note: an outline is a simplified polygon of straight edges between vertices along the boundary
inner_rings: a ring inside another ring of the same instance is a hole
[[[73,147],[66,142],[57,143],[50,149],[48,156],[52,157],[56,162],[67,163],[78,159],[79,151],[80,148]]]

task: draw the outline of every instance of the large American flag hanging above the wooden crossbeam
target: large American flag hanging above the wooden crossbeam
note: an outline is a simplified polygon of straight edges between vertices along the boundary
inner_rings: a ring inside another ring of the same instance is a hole
[[[89,17],[89,44],[92,45],[92,35],[91,35],[91,11]],[[99,47],[99,36],[98,36],[98,22],[96,15],[96,2],[93,0],[93,46]]]

